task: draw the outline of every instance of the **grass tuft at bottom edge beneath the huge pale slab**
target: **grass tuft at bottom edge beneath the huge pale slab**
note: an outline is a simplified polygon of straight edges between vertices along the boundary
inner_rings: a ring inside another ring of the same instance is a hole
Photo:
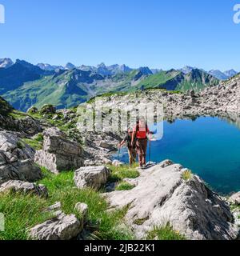
[[[163,227],[155,227],[154,230],[150,231],[147,239],[153,240],[154,238],[158,238],[158,240],[186,240],[182,234],[173,230],[169,223]]]

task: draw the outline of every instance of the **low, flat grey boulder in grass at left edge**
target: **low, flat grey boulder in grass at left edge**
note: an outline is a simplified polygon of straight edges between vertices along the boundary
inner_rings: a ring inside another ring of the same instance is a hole
[[[47,198],[48,192],[46,189],[46,186],[43,186],[41,184],[37,185],[35,183],[30,182],[21,182],[21,181],[8,181],[6,183],[3,183],[0,186],[0,193],[6,193],[6,192],[14,192],[14,193],[25,193],[25,194],[36,194],[40,197]]]

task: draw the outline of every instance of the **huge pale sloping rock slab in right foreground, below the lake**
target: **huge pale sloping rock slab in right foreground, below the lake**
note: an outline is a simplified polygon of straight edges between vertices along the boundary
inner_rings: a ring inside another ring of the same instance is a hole
[[[112,208],[128,206],[126,220],[138,238],[170,223],[188,239],[234,239],[238,230],[227,203],[198,176],[186,181],[178,164],[163,162],[142,172],[134,189],[106,194]]]

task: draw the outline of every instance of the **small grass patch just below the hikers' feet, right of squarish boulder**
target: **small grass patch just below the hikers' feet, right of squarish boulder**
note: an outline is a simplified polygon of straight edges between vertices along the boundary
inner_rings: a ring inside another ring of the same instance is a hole
[[[140,175],[136,166],[108,166],[111,170],[110,182],[120,182],[124,178],[138,178]]]

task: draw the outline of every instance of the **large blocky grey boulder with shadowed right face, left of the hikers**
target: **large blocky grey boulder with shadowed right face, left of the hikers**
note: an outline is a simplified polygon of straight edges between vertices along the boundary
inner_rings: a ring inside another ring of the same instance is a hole
[[[34,160],[55,174],[76,170],[83,166],[82,148],[77,142],[66,138],[58,128],[43,132],[43,149],[36,152]]]

